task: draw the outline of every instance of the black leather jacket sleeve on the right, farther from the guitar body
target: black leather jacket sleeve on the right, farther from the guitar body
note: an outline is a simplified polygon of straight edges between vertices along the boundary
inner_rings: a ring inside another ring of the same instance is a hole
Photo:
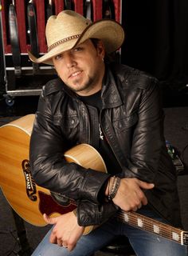
[[[156,79],[150,78],[139,99],[138,121],[132,135],[131,152],[122,177],[154,182],[165,150],[163,108]]]

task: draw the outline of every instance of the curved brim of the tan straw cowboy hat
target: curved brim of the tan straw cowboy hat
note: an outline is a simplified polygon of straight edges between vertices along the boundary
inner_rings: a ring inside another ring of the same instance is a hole
[[[62,42],[40,58],[34,57],[33,54],[28,51],[29,58],[32,62],[53,65],[53,57],[62,54],[66,50],[71,50],[88,38],[98,38],[102,40],[106,53],[110,54],[122,46],[124,41],[124,30],[116,21],[108,19],[99,20],[87,26],[82,34],[80,34],[79,38],[73,38],[67,42]]]

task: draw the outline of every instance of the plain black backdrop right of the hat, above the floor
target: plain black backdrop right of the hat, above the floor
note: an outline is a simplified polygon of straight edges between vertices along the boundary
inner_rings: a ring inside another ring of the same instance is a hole
[[[187,106],[188,1],[123,1],[122,62],[160,81],[164,106]]]

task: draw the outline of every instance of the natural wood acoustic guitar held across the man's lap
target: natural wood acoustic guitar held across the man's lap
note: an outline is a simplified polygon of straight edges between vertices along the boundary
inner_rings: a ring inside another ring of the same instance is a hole
[[[26,222],[45,226],[42,214],[57,216],[76,209],[69,199],[59,204],[51,192],[33,181],[29,170],[29,140],[34,114],[28,114],[0,127],[0,186],[10,206]],[[76,162],[85,168],[106,172],[103,158],[88,144],[80,144],[65,152],[67,162]],[[135,212],[119,210],[117,218],[131,226],[147,230],[182,245],[188,245],[188,232],[155,221]],[[84,234],[93,229],[87,227]]]

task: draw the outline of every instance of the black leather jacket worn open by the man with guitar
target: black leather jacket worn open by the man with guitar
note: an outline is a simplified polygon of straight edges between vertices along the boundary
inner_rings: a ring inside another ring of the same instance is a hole
[[[30,141],[33,178],[38,185],[76,200],[80,226],[100,224],[115,214],[112,202],[99,200],[109,174],[85,170],[63,158],[75,144],[97,148],[100,122],[121,166],[118,175],[154,182],[155,188],[146,191],[150,206],[180,226],[177,177],[163,137],[158,81],[116,64],[106,67],[101,98],[97,120],[95,111],[88,110],[59,78],[44,86]]]

